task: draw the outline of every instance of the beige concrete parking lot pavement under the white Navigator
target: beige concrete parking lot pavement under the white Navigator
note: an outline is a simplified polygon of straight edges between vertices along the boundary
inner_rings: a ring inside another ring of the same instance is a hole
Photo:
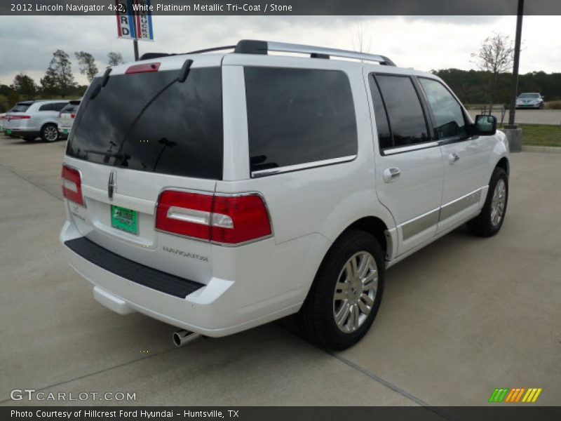
[[[176,349],[172,326],[98,305],[58,243],[64,148],[0,136],[1,405],[29,405],[10,400],[26,388],[137,405],[480,406],[495,387],[541,387],[536,404],[561,402],[558,154],[513,155],[501,232],[461,227],[389,269],[370,333],[328,353],[290,319]]]

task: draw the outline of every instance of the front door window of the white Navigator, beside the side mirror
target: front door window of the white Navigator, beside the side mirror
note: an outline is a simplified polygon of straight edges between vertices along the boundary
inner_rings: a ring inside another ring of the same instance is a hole
[[[419,81],[433,110],[438,139],[468,138],[464,112],[450,91],[433,79],[419,78]]]

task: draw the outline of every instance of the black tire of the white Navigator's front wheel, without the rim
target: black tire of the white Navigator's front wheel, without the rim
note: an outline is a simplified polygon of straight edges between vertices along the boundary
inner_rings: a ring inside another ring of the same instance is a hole
[[[499,218],[498,222],[493,222],[493,197],[495,194],[495,189],[499,181],[504,182],[504,206],[503,212]],[[504,217],[506,215],[506,206],[508,205],[508,175],[503,168],[496,167],[489,181],[489,191],[487,192],[487,198],[485,199],[485,204],[481,210],[481,213],[473,218],[473,220],[468,221],[468,229],[471,234],[476,236],[494,236],[501,227],[503,226]]]

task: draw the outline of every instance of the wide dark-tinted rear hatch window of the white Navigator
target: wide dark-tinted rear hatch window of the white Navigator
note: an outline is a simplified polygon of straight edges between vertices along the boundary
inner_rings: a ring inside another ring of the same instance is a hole
[[[222,179],[219,67],[96,78],[76,116],[67,154],[138,171]],[[97,92],[97,95],[93,95]]]

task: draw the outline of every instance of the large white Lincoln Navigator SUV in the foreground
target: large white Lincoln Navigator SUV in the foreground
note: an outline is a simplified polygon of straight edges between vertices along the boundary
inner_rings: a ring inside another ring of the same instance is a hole
[[[83,98],[60,241],[96,300],[182,328],[176,345],[298,313],[344,349],[388,267],[466,222],[501,228],[506,137],[433,74],[266,41],[147,57]]]

